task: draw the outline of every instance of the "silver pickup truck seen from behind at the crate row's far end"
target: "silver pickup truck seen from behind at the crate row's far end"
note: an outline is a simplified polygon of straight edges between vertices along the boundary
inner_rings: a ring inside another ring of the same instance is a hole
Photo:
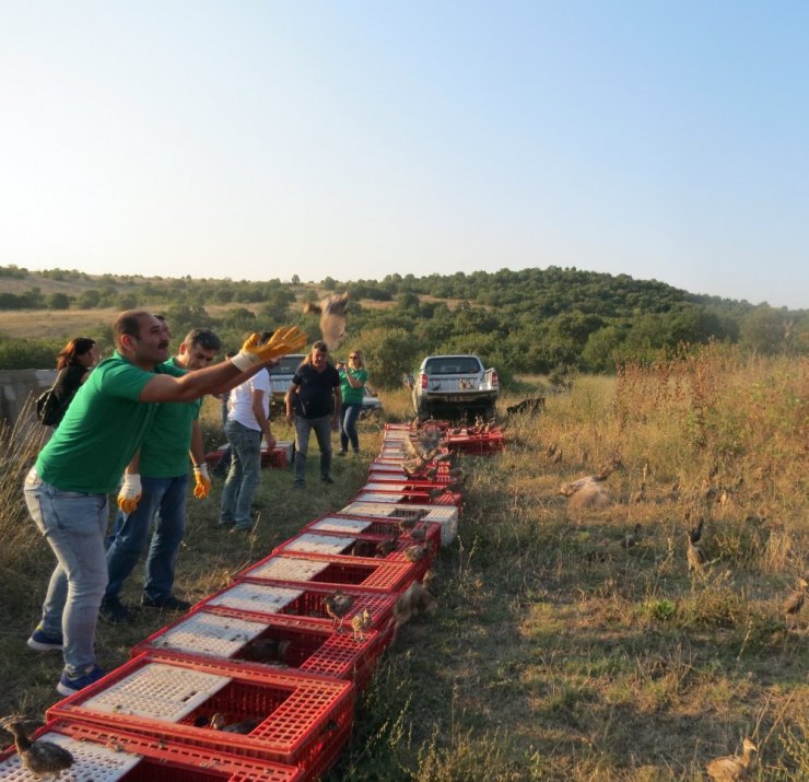
[[[427,355],[412,383],[413,408],[419,418],[491,419],[499,390],[497,371],[477,355]]]

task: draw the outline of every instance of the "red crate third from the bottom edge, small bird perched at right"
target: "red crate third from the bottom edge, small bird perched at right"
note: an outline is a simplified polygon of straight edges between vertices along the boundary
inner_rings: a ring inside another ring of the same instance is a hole
[[[364,687],[384,649],[385,633],[373,630],[372,622],[368,607],[348,616],[344,628],[337,632],[320,619],[300,616],[257,620],[195,610],[133,646],[131,654],[150,652],[155,658],[184,660],[224,657],[248,669],[289,667]],[[235,642],[225,646],[220,642],[222,637]]]

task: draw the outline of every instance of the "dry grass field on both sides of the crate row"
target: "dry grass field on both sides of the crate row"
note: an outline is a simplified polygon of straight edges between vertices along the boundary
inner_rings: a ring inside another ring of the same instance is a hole
[[[699,780],[743,736],[759,747],[750,779],[809,780],[809,606],[783,611],[809,571],[808,392],[806,360],[714,347],[576,378],[542,413],[505,421],[504,453],[457,459],[465,510],[436,563],[438,610],[382,658],[329,781]],[[519,398],[504,395],[501,419]],[[403,392],[383,399],[409,415]],[[215,405],[206,418],[215,440]],[[178,591],[210,594],[344,505],[379,448],[373,425],[361,436],[362,458],[340,460],[318,495],[266,471],[250,536],[214,528],[219,486],[190,499]],[[25,647],[51,557],[22,507],[20,441],[7,433],[0,477],[0,713],[42,715],[60,662]],[[560,493],[614,460],[585,499]],[[130,582],[134,600],[140,574]],[[101,626],[101,663],[166,620]]]

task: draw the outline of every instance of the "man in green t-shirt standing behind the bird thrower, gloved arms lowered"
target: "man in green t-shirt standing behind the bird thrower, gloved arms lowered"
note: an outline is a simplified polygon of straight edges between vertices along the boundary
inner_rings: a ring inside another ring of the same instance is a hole
[[[196,328],[183,340],[177,355],[161,364],[159,371],[181,376],[204,369],[221,348],[222,342],[213,331]],[[190,608],[190,603],[172,594],[172,587],[186,525],[189,453],[196,479],[195,495],[207,497],[211,487],[199,425],[201,406],[202,399],[159,405],[140,453],[127,467],[125,483],[127,489],[134,488],[140,500],[131,513],[118,512],[107,549],[109,582],[99,614],[109,623],[133,618],[119,594],[145,549],[152,520],[155,528],[146,557],[142,604],[175,611]]]

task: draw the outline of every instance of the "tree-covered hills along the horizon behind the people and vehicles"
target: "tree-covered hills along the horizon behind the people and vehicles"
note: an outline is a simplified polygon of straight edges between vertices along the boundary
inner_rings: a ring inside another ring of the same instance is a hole
[[[352,294],[352,342],[395,351],[397,372],[412,369],[423,353],[446,351],[478,352],[506,378],[514,373],[613,372],[628,360],[667,358],[682,345],[711,340],[764,354],[809,353],[809,311],[699,296],[656,280],[575,268],[304,283],[296,277],[292,282],[93,277],[0,267],[0,278],[5,291],[0,294],[0,335],[7,342],[49,336],[47,346],[38,348],[46,348],[45,355],[75,336],[83,318],[77,313],[85,313],[87,328],[102,329],[94,334],[108,343],[109,315],[133,306],[163,311],[176,336],[209,325],[233,345],[246,331],[283,323],[315,334],[317,324],[303,315],[302,305],[335,290]],[[45,329],[43,311],[59,313],[47,318]],[[37,348],[24,352],[37,355]],[[14,369],[9,361],[0,343],[0,367]],[[392,372],[383,381],[397,382]]]

